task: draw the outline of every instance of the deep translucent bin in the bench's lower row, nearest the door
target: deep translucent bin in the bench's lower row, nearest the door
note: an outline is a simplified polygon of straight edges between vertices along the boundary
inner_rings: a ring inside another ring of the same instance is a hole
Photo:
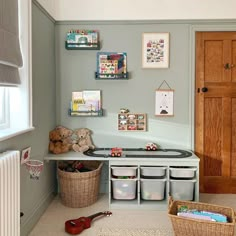
[[[174,200],[192,201],[196,180],[170,179],[170,195]]]

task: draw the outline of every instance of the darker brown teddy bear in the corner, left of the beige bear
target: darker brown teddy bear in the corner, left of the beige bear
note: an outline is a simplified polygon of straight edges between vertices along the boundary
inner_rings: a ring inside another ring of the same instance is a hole
[[[73,130],[64,126],[57,126],[49,132],[49,151],[54,154],[65,153],[71,150]]]

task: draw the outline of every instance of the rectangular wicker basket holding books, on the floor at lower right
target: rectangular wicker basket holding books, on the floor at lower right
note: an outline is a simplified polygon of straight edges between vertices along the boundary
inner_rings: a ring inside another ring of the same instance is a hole
[[[197,209],[224,214],[229,223],[212,222],[199,219],[190,219],[177,216],[178,205],[188,206],[189,209]],[[191,201],[169,201],[168,215],[171,219],[176,236],[233,236],[235,226],[235,213],[230,207],[223,207]]]

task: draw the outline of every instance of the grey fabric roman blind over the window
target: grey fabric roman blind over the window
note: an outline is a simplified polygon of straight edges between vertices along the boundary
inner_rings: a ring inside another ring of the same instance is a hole
[[[20,84],[18,0],[0,0],[0,86]]]

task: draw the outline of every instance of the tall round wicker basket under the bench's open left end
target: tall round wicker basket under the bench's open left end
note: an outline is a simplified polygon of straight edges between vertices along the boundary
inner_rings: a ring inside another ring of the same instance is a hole
[[[81,161],[88,172],[66,172],[59,167],[58,178],[61,201],[68,207],[86,207],[97,201],[102,162]]]

